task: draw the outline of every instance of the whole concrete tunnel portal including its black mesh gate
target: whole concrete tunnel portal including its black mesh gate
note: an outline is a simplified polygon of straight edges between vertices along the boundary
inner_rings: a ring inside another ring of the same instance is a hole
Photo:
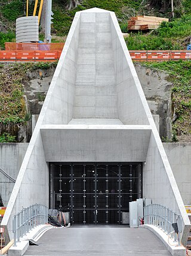
[[[144,164],[143,164],[144,163]],[[115,13],[75,14],[2,225],[23,207],[69,206],[73,224],[129,224],[151,198],[190,222]]]

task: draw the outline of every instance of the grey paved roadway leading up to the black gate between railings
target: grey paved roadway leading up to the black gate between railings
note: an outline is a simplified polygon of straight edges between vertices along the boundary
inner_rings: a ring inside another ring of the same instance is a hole
[[[171,255],[149,230],[119,226],[72,226],[47,231],[24,255]]]

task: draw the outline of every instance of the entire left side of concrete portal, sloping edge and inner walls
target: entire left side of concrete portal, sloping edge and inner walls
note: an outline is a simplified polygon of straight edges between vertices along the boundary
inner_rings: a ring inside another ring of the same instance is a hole
[[[75,58],[75,49],[78,49],[78,22],[79,13],[75,16],[64,50],[61,53],[41,115],[27,147],[7,210],[1,222],[1,225],[8,230],[10,238],[13,237],[13,215],[20,212],[23,207],[35,203],[48,206],[48,164],[45,161],[40,128],[43,122],[44,124],[54,124],[54,122],[60,124],[62,122],[67,123],[72,118],[73,94],[71,90],[73,85],[70,82],[71,79],[75,79],[75,61],[72,61],[72,58]],[[53,97],[51,98],[51,96]],[[47,115],[45,115],[46,112]]]

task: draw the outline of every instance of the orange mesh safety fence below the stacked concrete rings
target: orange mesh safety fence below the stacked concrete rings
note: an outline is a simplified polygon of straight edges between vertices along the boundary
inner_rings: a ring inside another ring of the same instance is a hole
[[[50,50],[50,51],[61,51],[64,47],[64,43],[5,43],[5,50],[24,50],[24,51],[34,51],[34,50]]]

